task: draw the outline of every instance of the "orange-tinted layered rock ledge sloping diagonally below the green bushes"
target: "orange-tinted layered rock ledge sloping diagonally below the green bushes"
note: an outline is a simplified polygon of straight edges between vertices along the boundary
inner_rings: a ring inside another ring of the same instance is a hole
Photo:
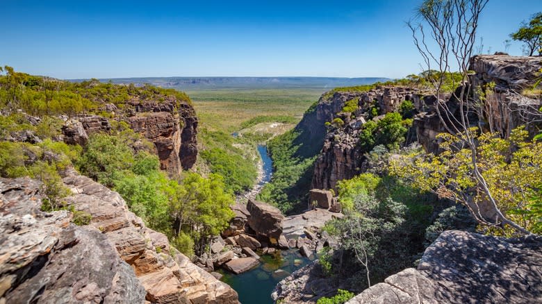
[[[122,197],[68,170],[63,182],[74,193],[65,201],[92,216],[97,228],[136,273],[153,303],[238,303],[237,293],[170,247],[167,237],[145,226]]]

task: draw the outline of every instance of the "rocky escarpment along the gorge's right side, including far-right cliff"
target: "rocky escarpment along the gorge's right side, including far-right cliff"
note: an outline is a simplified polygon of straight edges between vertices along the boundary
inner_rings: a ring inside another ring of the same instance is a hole
[[[503,137],[517,126],[525,125],[530,135],[539,130],[538,109],[541,99],[529,96],[536,82],[542,60],[537,57],[514,57],[507,55],[474,56],[470,59],[470,88],[465,88],[472,99],[479,100],[479,107],[470,109],[472,126],[498,132]],[[457,88],[457,92],[462,90]],[[458,95],[458,94],[456,94]],[[454,94],[444,94],[447,106],[459,117],[459,103]],[[350,101],[350,102],[349,102]],[[355,108],[345,111],[345,105],[356,103]],[[438,133],[447,132],[435,109],[436,98],[427,90],[400,85],[381,85],[366,92],[334,92],[324,94],[315,106],[315,121],[329,124],[321,136],[322,151],[315,160],[312,188],[336,189],[339,180],[349,179],[363,173],[366,153],[359,145],[363,124],[377,121],[388,112],[397,111],[403,101],[411,101],[418,114],[407,134],[407,143],[418,141],[426,151],[438,153]],[[378,109],[377,113],[371,112]],[[378,116],[380,115],[380,116]],[[370,118],[371,117],[371,118]],[[538,118],[538,119],[536,119]],[[453,118],[450,118],[453,119]],[[315,122],[313,122],[314,124]],[[304,122],[309,124],[309,122]],[[322,132],[322,127],[313,127]]]

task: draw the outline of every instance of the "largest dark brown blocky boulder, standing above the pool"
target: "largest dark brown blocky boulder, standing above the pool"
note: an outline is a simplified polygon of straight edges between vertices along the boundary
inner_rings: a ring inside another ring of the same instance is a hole
[[[270,239],[272,244],[277,244],[282,234],[282,221],[284,215],[278,208],[249,199],[247,210],[250,212],[248,224],[258,235]]]

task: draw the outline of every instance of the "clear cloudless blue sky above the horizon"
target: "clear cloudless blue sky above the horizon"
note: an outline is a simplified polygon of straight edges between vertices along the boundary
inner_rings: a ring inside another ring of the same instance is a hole
[[[421,70],[404,24],[420,2],[0,0],[0,65],[56,78],[399,78]],[[541,10],[542,0],[490,0],[484,52],[504,51]]]

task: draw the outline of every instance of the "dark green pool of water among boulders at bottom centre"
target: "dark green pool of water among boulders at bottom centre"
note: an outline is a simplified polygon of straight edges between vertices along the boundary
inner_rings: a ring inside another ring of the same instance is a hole
[[[297,249],[290,249],[277,251],[273,255],[262,255],[258,267],[245,273],[235,275],[227,271],[220,272],[224,275],[222,281],[236,290],[241,303],[268,304],[273,303],[271,293],[277,283],[309,262]],[[282,271],[276,272],[279,269]]]

